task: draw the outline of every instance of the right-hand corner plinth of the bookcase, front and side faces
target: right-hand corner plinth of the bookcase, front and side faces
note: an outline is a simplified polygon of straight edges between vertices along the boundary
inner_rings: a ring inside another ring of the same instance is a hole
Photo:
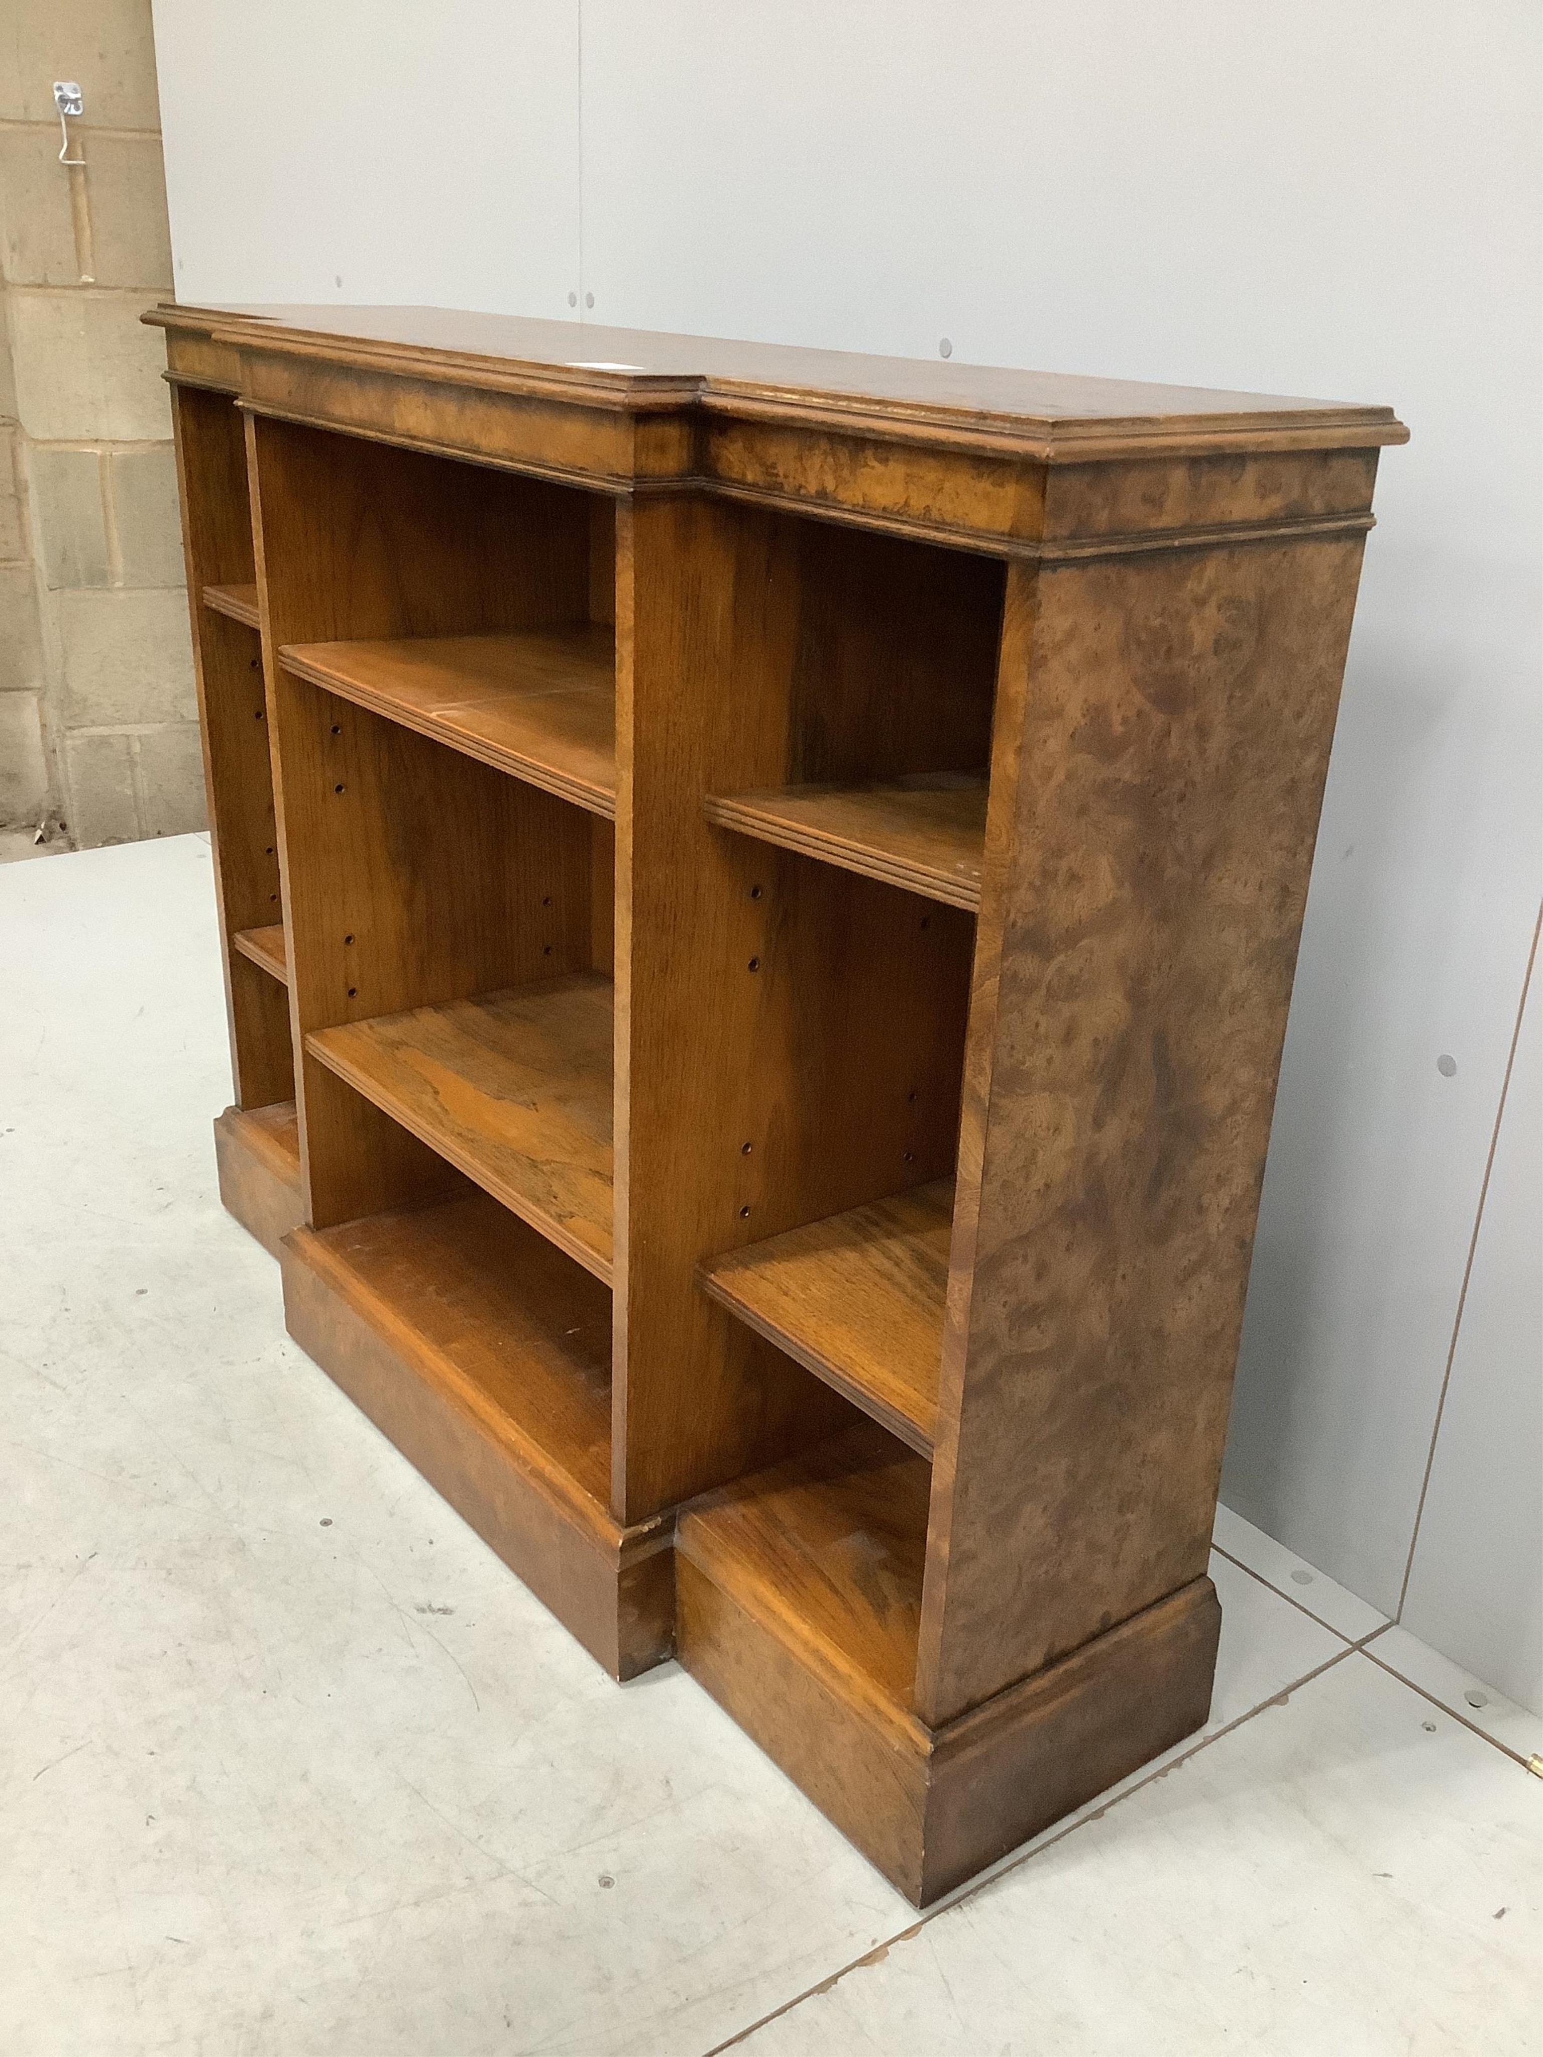
[[[1181,1742],[1210,1711],[1222,1611],[1208,1578],[944,1728],[854,1691],[689,1555],[685,1670],[916,1907]]]

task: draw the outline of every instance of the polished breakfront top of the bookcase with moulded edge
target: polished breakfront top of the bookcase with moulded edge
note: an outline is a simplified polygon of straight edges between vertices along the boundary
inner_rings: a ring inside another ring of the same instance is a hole
[[[529,321],[438,306],[160,306],[146,317],[255,348],[372,362],[436,358],[471,383],[529,385],[625,407],[695,401],[708,411],[889,413],[938,426],[988,428],[1039,442],[1107,438],[1119,430],[1201,436],[1224,430],[1329,430],[1345,444],[1405,442],[1391,407],[1218,393],[1064,372],[1008,370],[930,358],[798,350],[580,321]]]

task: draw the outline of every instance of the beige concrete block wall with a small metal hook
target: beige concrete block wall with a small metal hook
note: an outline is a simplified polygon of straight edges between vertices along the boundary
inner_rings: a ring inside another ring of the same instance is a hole
[[[62,134],[53,80],[84,115]],[[0,827],[78,847],[204,825],[150,0],[0,25]]]

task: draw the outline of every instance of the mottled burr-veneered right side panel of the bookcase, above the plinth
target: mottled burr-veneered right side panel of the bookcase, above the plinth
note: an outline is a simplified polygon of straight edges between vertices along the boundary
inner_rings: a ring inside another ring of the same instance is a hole
[[[1350,539],[1012,574],[932,1726],[1206,1569],[1358,572]]]

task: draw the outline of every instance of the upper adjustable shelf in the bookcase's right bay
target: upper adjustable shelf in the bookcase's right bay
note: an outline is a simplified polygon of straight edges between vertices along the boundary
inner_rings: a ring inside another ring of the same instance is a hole
[[[985,775],[953,771],[874,786],[782,786],[706,802],[720,829],[755,835],[864,878],[965,907],[981,903]]]

